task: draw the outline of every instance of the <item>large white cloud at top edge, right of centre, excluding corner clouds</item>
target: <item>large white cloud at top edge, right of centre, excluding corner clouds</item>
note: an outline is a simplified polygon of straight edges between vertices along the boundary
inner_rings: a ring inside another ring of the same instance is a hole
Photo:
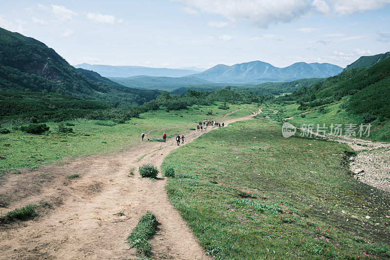
[[[179,1],[186,3],[191,9],[195,8],[206,13],[219,14],[231,21],[249,20],[262,28],[266,28],[270,24],[297,20],[311,8],[309,0]]]

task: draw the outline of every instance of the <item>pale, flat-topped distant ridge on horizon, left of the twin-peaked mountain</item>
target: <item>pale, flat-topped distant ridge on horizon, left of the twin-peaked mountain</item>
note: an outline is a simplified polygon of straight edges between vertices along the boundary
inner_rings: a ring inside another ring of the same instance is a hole
[[[145,75],[156,77],[184,77],[194,73],[196,70],[169,69],[169,68],[149,68],[141,66],[111,66],[111,65],[91,65],[82,63],[75,65],[75,68],[82,68],[97,72],[103,77],[127,78],[131,76]]]

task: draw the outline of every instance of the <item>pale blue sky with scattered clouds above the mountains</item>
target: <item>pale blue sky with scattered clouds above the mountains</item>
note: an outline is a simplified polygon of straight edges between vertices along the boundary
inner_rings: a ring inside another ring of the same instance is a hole
[[[345,67],[390,51],[390,0],[8,0],[0,27],[72,65]]]

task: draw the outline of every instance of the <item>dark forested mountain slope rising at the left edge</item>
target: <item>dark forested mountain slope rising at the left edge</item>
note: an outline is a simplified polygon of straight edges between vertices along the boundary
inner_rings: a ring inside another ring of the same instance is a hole
[[[0,28],[0,81],[2,88],[35,92],[57,92],[88,100],[101,100],[111,106],[142,104],[158,92],[119,85],[100,75],[78,71],[55,50],[33,38]]]

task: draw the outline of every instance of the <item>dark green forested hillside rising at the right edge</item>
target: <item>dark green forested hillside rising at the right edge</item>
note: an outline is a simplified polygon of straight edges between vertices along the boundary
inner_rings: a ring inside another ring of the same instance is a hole
[[[390,58],[369,68],[345,70],[337,76],[302,87],[278,101],[295,101],[312,109],[345,100],[343,108],[366,122],[390,118]]]

